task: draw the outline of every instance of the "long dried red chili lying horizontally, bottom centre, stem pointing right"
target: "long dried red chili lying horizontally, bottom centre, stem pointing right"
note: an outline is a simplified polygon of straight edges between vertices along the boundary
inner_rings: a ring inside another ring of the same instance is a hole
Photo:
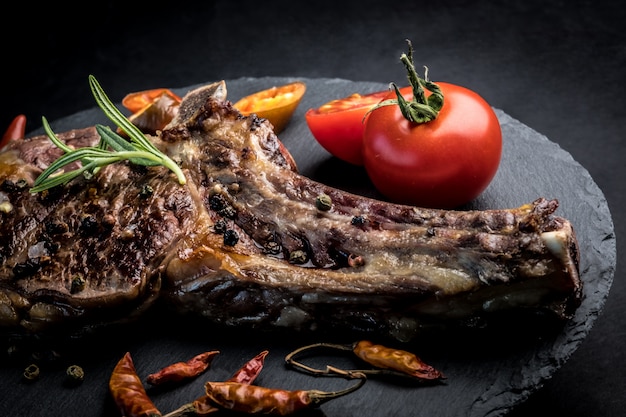
[[[317,407],[327,401],[356,391],[366,381],[364,374],[351,374],[359,383],[341,391],[288,391],[238,382],[207,382],[206,394],[216,405],[231,411],[248,414],[286,416],[306,408]]]

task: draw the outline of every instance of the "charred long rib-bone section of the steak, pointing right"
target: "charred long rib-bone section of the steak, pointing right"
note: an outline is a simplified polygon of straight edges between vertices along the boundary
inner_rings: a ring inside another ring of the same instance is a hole
[[[237,146],[220,138],[225,125]],[[196,181],[214,232],[239,237],[196,274],[182,268],[195,260],[172,257],[165,276],[175,290],[164,296],[182,311],[256,327],[343,322],[404,338],[507,309],[567,318],[580,303],[576,238],[554,215],[555,200],[458,212],[352,195],[298,175],[266,125],[224,102],[208,102],[164,137],[176,143],[178,134],[202,144],[202,159],[217,158]],[[329,210],[316,206],[320,195],[330,197]],[[556,254],[544,242],[552,232],[563,239]]]

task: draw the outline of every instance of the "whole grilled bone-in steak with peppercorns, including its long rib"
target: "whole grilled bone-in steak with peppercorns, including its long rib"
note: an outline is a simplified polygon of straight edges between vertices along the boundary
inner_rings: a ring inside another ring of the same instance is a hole
[[[94,145],[94,128],[59,134]],[[155,145],[183,168],[109,165],[33,195],[60,155],[45,136],[0,153],[0,324],[42,331],[181,314],[257,328],[348,328],[409,340],[507,312],[572,316],[578,248],[555,200],[445,211],[298,174],[271,125],[225,85],[190,92]]]

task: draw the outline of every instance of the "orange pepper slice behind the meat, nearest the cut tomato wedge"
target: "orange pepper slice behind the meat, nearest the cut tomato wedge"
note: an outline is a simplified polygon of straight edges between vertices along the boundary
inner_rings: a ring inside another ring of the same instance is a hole
[[[278,134],[291,120],[305,92],[306,84],[295,81],[246,96],[234,106],[245,116],[255,113],[269,120],[274,126],[274,133]]]

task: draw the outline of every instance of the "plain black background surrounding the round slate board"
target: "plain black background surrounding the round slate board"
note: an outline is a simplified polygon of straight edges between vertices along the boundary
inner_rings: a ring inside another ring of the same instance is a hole
[[[477,91],[568,151],[613,214],[618,265],[602,314],[571,359],[511,415],[624,415],[626,9],[618,1],[492,3],[15,3],[0,28],[0,126],[23,113],[33,130],[41,116],[93,107],[88,74],[117,100],[244,76],[403,83],[399,56],[411,39],[416,65],[427,65],[433,80]]]

